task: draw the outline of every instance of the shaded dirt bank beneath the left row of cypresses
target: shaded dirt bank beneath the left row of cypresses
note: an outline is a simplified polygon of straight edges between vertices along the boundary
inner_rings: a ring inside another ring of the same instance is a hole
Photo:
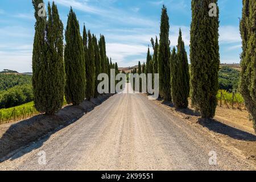
[[[84,101],[79,106],[65,106],[56,115],[36,115],[23,121],[0,125],[0,162],[10,152],[34,142],[48,133],[55,133],[77,121],[82,115],[100,105],[111,95],[105,94]],[[10,154],[11,155],[11,154]],[[6,156],[8,158],[8,156]]]

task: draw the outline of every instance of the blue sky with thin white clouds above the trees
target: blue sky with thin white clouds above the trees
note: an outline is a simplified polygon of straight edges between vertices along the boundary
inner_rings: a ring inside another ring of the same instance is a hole
[[[97,37],[104,34],[107,55],[119,67],[145,61],[151,37],[159,36],[160,13],[164,4],[170,16],[171,46],[176,46],[181,28],[189,54],[190,0],[55,0],[55,3],[64,27],[72,6],[80,22],[80,31],[85,23],[86,29]],[[218,6],[221,63],[239,63],[242,1],[220,0]],[[0,1],[0,70],[31,72],[34,24],[31,0]]]

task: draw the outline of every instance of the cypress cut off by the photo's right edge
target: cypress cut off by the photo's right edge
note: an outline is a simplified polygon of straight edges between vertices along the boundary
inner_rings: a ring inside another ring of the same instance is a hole
[[[256,133],[256,1],[243,0],[240,32],[242,37],[240,90],[253,118]]]

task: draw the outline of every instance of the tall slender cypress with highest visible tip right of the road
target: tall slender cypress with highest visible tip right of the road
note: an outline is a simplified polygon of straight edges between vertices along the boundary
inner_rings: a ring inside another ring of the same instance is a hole
[[[161,24],[160,24],[160,40],[158,50],[158,73],[159,73],[159,93],[164,100],[170,98],[170,42],[169,42],[169,17],[167,15],[166,6],[163,5]]]

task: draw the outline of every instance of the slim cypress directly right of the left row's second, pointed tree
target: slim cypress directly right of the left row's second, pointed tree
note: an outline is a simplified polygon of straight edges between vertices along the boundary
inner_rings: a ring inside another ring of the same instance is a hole
[[[88,51],[86,51],[86,60],[85,60],[85,72],[86,72],[86,99],[90,100],[90,98],[94,97],[95,93],[95,78],[96,78],[96,69],[95,69],[95,53],[93,46],[93,37],[88,31]]]

